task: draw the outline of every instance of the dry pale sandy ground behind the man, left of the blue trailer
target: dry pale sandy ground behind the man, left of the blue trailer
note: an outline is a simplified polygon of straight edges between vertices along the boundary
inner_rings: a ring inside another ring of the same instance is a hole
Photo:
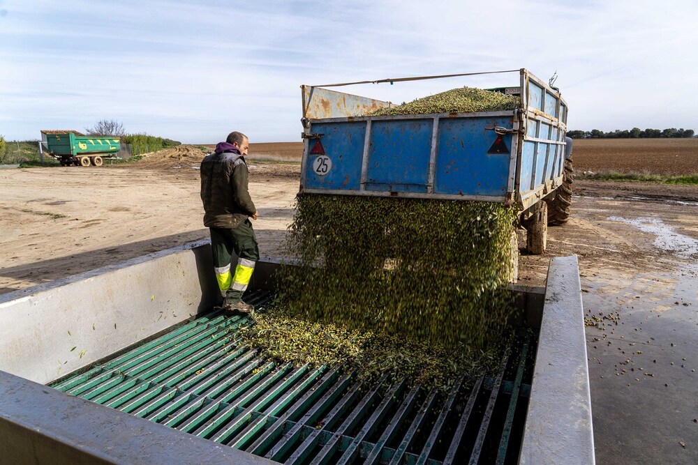
[[[297,176],[274,176],[269,165],[250,171],[260,250],[278,255]],[[208,236],[193,169],[3,170],[0,211],[0,294]]]

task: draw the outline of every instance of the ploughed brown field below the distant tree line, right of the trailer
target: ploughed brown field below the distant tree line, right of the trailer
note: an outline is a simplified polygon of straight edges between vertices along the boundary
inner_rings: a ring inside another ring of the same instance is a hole
[[[574,170],[698,174],[698,139],[574,139]]]

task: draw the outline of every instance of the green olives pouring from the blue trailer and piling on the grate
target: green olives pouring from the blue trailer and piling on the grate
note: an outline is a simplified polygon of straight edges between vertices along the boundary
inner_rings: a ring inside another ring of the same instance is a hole
[[[349,361],[447,388],[508,343],[514,210],[435,199],[299,195],[273,310],[248,341],[270,358]]]

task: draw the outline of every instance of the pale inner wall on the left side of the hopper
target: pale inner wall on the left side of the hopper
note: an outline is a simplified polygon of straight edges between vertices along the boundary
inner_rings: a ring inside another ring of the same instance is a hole
[[[0,370],[38,383],[126,349],[215,305],[204,242],[0,296]]]

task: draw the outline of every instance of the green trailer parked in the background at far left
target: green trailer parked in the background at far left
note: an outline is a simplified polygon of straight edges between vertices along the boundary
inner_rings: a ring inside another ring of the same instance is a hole
[[[41,146],[61,166],[102,166],[105,158],[116,158],[121,150],[117,137],[86,136],[74,130],[43,130]]]

